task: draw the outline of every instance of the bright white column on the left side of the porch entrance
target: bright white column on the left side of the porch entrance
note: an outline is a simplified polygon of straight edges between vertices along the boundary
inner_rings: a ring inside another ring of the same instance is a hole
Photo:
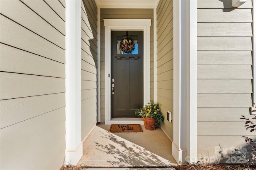
[[[66,0],[66,163],[82,157],[81,0]]]

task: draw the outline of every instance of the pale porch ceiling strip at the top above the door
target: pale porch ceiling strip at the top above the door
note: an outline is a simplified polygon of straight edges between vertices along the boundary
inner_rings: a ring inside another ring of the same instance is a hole
[[[156,8],[159,0],[96,0],[99,8]]]

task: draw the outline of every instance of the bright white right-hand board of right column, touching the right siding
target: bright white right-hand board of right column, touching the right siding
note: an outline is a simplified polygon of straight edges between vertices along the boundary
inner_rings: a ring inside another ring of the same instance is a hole
[[[188,156],[189,162],[197,162],[197,1],[191,0],[187,2],[188,5],[188,32],[189,32],[189,109],[188,109]]]

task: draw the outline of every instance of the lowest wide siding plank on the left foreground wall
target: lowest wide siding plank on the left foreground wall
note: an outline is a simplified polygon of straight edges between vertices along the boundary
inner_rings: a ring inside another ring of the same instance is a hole
[[[60,168],[65,157],[64,113],[61,107],[1,129],[1,169]]]

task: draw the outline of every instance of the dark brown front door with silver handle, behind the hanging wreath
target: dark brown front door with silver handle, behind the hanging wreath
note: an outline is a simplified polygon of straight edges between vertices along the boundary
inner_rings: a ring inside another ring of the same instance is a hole
[[[135,49],[124,53],[120,41],[131,36]],[[111,31],[112,118],[136,117],[143,106],[143,31]]]

